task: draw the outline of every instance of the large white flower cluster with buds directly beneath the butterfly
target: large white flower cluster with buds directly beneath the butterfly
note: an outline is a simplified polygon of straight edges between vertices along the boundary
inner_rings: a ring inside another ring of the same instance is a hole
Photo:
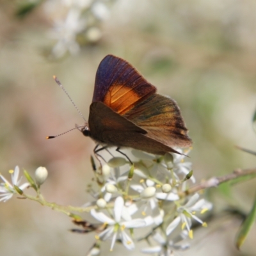
[[[132,160],[132,166],[123,157],[113,157],[95,173],[100,188],[91,191],[96,199],[90,203],[96,207],[91,214],[104,226],[95,236],[97,250],[99,241],[108,239],[111,251],[117,239],[128,250],[134,249],[134,241],[151,241],[143,253],[172,255],[185,250],[189,244],[180,242],[193,238],[193,221],[206,227],[200,215],[212,207],[198,193],[184,196],[188,182],[195,182],[188,157],[181,151],[165,156],[137,150],[132,154],[140,159]]]

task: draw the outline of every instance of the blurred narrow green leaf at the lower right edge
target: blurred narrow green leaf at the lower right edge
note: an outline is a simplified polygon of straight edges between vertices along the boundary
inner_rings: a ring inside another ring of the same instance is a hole
[[[256,195],[255,195],[255,200],[254,200],[252,210],[248,214],[246,220],[242,223],[240,230],[237,233],[236,247],[238,250],[240,250],[241,246],[243,245],[246,237],[248,236],[252,228],[253,223],[255,223],[255,220],[256,220]]]

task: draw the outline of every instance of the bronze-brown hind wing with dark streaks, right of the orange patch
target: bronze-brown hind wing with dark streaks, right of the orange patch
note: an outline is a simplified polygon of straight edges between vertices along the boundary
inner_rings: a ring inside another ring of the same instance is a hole
[[[189,147],[191,139],[180,109],[169,97],[154,94],[124,115],[138,125],[147,136],[169,147]]]

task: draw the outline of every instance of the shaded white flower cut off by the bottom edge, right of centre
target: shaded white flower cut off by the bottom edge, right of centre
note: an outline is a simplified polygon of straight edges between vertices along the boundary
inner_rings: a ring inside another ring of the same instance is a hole
[[[176,244],[185,239],[188,232],[182,231],[179,236],[175,237],[174,239],[170,239],[168,236],[164,236],[159,232],[154,232],[152,238],[156,243],[157,246],[152,246],[148,248],[143,248],[141,252],[153,254],[157,253],[158,256],[171,256],[173,255],[173,250],[186,250],[189,248],[189,244]]]

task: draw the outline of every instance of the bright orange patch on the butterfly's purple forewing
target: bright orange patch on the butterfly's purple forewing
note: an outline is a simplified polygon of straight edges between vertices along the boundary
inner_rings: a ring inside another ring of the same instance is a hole
[[[140,98],[134,89],[122,84],[113,84],[109,88],[103,102],[118,114],[124,115],[134,107],[134,104]]]

